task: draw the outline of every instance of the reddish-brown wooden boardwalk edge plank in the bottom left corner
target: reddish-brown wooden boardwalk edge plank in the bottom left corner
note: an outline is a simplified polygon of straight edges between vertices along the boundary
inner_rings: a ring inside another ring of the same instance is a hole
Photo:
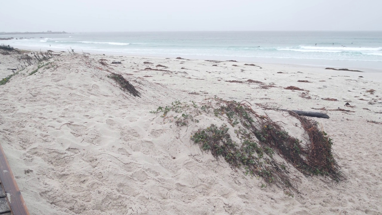
[[[8,161],[4,155],[3,147],[0,144],[0,181],[3,185],[8,199],[11,212],[14,215],[29,215],[28,208],[24,202],[23,196],[16,184],[15,177],[9,167]]]

